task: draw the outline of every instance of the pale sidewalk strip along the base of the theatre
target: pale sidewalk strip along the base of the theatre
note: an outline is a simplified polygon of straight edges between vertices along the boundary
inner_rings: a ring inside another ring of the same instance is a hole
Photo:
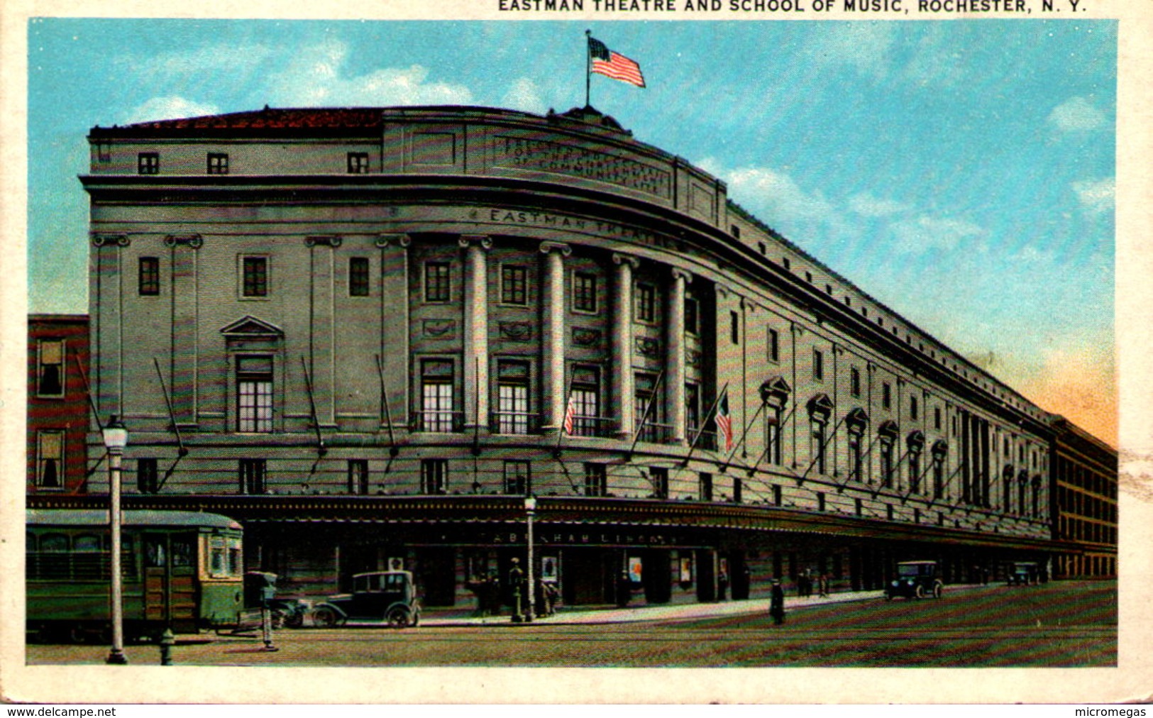
[[[966,588],[965,585],[950,585],[945,589],[945,595],[950,590]],[[881,600],[884,591],[842,591],[829,594],[828,598],[808,596],[785,597],[785,610],[802,609],[805,606],[843,603],[849,600]],[[719,618],[724,615],[747,615],[752,613],[769,612],[769,599],[753,598],[748,600],[722,600],[717,603],[689,603],[675,605],[636,606],[625,609],[567,609],[560,607],[555,615],[538,618],[534,622],[564,626],[571,623],[626,623],[632,621],[683,621],[701,618]],[[445,614],[438,612],[427,612],[421,617],[421,626],[488,626],[488,625],[513,625],[511,617],[485,615],[473,617],[460,613]]]

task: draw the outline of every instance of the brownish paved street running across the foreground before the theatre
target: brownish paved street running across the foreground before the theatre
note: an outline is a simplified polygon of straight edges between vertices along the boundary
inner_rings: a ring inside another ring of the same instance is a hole
[[[304,628],[179,645],[178,665],[323,666],[1111,666],[1115,582],[950,587],[940,600],[793,599],[783,626],[763,602],[571,611],[532,625],[429,620],[420,628]],[[845,597],[842,597],[845,598]],[[806,603],[807,605],[798,605]],[[621,620],[640,618],[641,620]],[[437,625],[439,623],[439,625]],[[155,664],[151,645],[128,647]],[[100,663],[98,645],[30,645],[30,664]]]

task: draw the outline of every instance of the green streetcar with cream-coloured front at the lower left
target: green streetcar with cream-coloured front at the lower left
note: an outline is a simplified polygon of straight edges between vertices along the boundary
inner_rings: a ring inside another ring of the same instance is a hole
[[[126,511],[125,636],[235,627],[243,609],[243,531],[227,516]],[[101,509],[28,509],[27,627],[33,641],[106,638],[111,535]]]

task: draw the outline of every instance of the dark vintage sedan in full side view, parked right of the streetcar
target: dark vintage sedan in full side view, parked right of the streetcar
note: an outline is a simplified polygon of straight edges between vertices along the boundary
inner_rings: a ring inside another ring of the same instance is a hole
[[[312,609],[312,623],[319,628],[348,621],[387,622],[392,628],[416,626],[421,605],[407,570],[380,570],[353,576],[352,594],[330,596]]]

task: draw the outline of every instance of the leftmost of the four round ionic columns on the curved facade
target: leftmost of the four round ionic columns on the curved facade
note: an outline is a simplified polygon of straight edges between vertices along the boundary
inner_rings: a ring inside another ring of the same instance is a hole
[[[484,252],[492,240],[480,234],[460,237],[465,248],[465,428],[488,426],[489,292]]]

